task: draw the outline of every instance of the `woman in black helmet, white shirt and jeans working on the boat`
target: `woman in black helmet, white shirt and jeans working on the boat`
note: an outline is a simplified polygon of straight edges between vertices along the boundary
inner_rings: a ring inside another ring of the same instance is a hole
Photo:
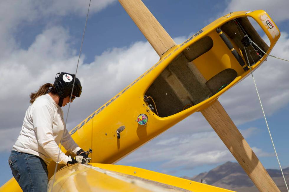
[[[44,84],[36,93],[31,93],[31,104],[8,160],[23,191],[47,191],[47,165],[52,160],[66,165],[90,160],[68,133],[61,109],[79,97],[81,89],[74,74],[62,72],[56,74],[54,84]],[[58,145],[62,136],[62,145],[76,157],[71,158],[60,151]]]

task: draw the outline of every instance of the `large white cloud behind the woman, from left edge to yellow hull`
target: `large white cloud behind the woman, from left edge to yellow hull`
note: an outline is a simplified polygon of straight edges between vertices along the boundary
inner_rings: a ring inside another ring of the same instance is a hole
[[[44,83],[53,83],[59,71],[74,73],[78,55],[71,49],[70,40],[68,29],[53,26],[37,35],[27,50],[14,49],[9,58],[0,59],[0,81],[6,85],[0,87],[1,129],[9,132],[9,128],[18,126],[20,131],[29,106],[29,94]],[[150,68],[158,56],[148,42],[135,42],[129,47],[104,51],[90,64],[83,64],[83,59],[84,56],[77,74],[83,92],[81,100],[76,99],[71,105],[68,129]],[[66,110],[67,107],[64,108],[65,117]],[[13,129],[7,135],[15,140],[18,133],[14,134]],[[11,148],[11,143],[3,145],[3,149]]]

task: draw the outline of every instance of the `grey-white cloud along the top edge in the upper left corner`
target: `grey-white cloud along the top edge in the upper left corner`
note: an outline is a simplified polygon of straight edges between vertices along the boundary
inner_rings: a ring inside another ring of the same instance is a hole
[[[90,14],[106,8],[116,0],[93,0]],[[1,1],[1,24],[16,28],[21,22],[33,22],[39,19],[52,19],[54,16],[79,15],[86,16],[89,0],[40,0],[40,1]],[[26,23],[27,24],[27,23]]]

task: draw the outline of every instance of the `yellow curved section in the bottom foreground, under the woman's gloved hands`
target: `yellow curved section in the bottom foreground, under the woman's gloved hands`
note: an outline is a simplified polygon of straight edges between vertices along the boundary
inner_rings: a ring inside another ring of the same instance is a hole
[[[48,183],[48,191],[51,190],[52,178]],[[227,189],[141,168],[100,163],[77,164],[59,170],[52,191],[230,192]]]

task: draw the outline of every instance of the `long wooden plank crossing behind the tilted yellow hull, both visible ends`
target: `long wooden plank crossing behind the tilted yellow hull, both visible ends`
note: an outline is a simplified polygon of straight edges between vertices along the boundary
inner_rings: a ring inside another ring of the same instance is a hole
[[[119,2],[159,56],[176,45],[141,0],[119,0]],[[201,113],[256,187],[262,192],[280,192],[219,101],[217,100],[211,106],[201,111]]]

